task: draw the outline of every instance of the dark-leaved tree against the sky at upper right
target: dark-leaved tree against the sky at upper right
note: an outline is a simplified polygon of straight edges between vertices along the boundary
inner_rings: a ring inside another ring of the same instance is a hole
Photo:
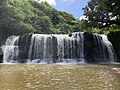
[[[120,26],[120,0],[91,0],[83,10],[91,27]]]

